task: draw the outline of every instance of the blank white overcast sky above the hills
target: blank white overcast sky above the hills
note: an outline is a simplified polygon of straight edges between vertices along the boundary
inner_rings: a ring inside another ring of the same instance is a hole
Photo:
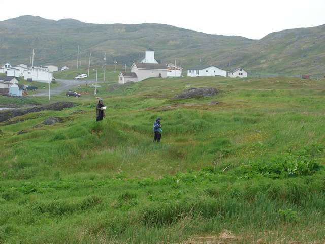
[[[2,6],[7,3],[0,0]],[[94,24],[158,23],[249,39],[261,39],[285,29],[325,24],[325,0],[16,0],[13,3],[2,11],[0,21],[32,15]]]

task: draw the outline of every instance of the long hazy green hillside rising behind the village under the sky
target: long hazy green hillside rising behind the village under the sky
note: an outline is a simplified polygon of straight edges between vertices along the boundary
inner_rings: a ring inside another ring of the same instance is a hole
[[[21,16],[0,21],[0,63],[67,65],[76,68],[104,62],[128,67],[140,59],[149,44],[161,63],[182,62],[185,69],[213,64],[225,70],[279,74],[325,73],[325,25],[269,34],[261,40],[198,33],[163,24],[88,24]],[[14,50],[14,51],[13,51]]]

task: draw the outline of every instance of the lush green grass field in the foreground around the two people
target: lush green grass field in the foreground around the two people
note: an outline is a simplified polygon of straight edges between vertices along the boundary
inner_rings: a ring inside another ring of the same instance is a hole
[[[95,95],[62,94],[75,107],[0,123],[0,243],[325,242],[325,80],[101,85],[103,121]],[[190,87],[220,93],[171,99]]]

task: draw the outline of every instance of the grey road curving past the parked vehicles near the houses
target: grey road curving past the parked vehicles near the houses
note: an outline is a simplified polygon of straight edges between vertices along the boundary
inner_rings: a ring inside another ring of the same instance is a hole
[[[50,89],[50,95],[59,95],[60,93],[66,92],[66,90],[71,90],[75,88],[78,85],[84,85],[84,84],[95,84],[95,80],[85,80],[85,79],[75,79],[75,80],[60,80],[56,79],[58,83],[60,83],[59,87],[51,88]],[[103,83],[103,81],[97,80],[97,83]],[[45,87],[48,87],[47,83],[44,83]],[[46,97],[49,96],[49,89],[37,89],[36,94],[32,94],[29,96],[35,96],[35,97]]]

